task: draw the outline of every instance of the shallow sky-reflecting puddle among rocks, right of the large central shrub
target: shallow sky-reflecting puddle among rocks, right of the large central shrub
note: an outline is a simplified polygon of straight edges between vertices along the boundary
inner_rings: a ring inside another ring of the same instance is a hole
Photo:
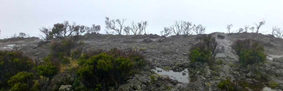
[[[161,72],[157,72],[157,70],[161,70]],[[153,69],[153,71],[155,71],[157,74],[160,74],[160,75],[169,75],[169,77],[173,80],[176,79],[176,80],[178,80],[179,82],[182,82],[182,83],[189,83],[188,69],[185,69],[181,72],[180,71],[175,72],[173,70],[165,71],[162,68],[156,68],[156,69]],[[183,75],[183,73],[186,73],[186,75]]]

